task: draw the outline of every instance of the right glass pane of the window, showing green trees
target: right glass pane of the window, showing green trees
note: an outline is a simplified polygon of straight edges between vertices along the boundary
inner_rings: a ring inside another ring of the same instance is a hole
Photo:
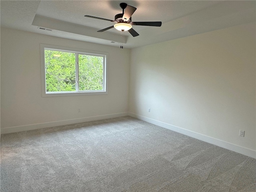
[[[78,55],[79,90],[103,90],[103,57]]]

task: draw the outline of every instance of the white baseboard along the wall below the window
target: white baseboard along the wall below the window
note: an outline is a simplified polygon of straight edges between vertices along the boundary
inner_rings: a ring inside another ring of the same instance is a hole
[[[55,122],[47,122],[47,123],[40,123],[40,124],[1,128],[1,134],[42,129],[42,128],[82,123],[82,122],[88,122],[88,121],[96,121],[96,120],[109,119],[109,118],[122,117],[122,116],[128,116],[128,112],[101,115],[101,116],[93,116],[93,117],[85,117],[85,118],[78,118],[78,119],[70,119],[70,120],[63,120],[63,121],[55,121]]]

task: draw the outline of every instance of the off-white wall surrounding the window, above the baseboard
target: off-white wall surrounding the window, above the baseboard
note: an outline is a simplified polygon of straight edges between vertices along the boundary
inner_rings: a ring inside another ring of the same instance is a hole
[[[108,94],[43,98],[40,44],[108,52]],[[84,118],[92,116],[127,115],[129,63],[127,49],[1,28],[2,134],[74,123],[80,118],[85,121]],[[48,122],[58,123],[45,124]],[[28,125],[32,126],[28,128]]]

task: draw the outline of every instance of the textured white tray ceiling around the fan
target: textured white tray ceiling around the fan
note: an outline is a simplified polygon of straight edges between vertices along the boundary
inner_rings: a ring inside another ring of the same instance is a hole
[[[162,21],[161,27],[133,26],[140,36],[132,37],[125,32],[125,48],[255,22],[256,17],[255,1],[1,0],[1,26],[120,46],[111,43],[120,40],[120,32],[116,29],[96,32],[112,26],[112,22],[86,18],[84,15],[114,20],[116,14],[122,13],[119,6],[121,2],[137,8],[132,21]],[[40,30],[38,26],[51,28],[53,31]]]

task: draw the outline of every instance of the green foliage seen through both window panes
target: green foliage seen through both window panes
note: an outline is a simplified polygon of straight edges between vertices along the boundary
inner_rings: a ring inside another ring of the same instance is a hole
[[[104,56],[44,50],[46,92],[104,90]]]

